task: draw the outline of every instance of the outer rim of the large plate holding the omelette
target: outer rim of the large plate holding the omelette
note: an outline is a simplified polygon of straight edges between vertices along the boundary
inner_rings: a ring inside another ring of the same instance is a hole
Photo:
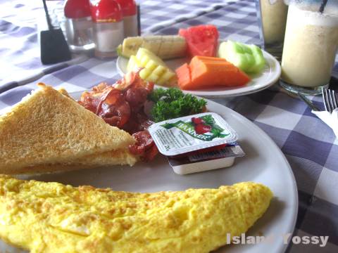
[[[76,91],[76,92],[72,92],[70,93],[70,96],[72,96],[73,98],[79,98],[80,94],[83,91]],[[252,131],[255,131],[256,133],[258,133],[258,135],[260,135],[261,137],[263,137],[265,139],[266,143],[269,143],[273,148],[275,148],[275,150],[277,150],[277,154],[282,158],[282,160],[284,161],[284,165],[285,167],[287,167],[287,172],[289,173],[289,176],[291,176],[292,178],[292,199],[290,198],[289,202],[293,202],[293,206],[294,208],[292,209],[292,222],[289,223],[289,226],[287,227],[287,231],[289,233],[293,233],[294,229],[296,227],[296,219],[297,219],[297,214],[298,214],[298,209],[299,209],[299,199],[298,199],[298,188],[296,186],[296,179],[294,178],[294,174],[292,171],[292,168],[289,164],[289,162],[287,161],[287,158],[285,157],[285,155],[282,153],[282,151],[280,150],[280,148],[277,146],[277,144],[272,140],[272,138],[270,138],[270,136],[268,136],[268,134],[266,134],[261,128],[259,128],[258,126],[256,126],[256,124],[253,124],[253,122],[251,122],[249,119],[246,119],[246,117],[240,115],[238,112],[235,112],[234,110],[227,108],[225,105],[221,105],[220,103],[216,103],[213,102],[212,100],[207,100],[207,108],[209,108],[211,110],[211,112],[213,111],[213,108],[220,108],[220,110],[223,110],[224,112],[229,113],[230,117],[234,117],[237,118],[238,120],[242,121],[244,124],[247,124],[250,126],[250,128],[252,129]],[[1,108],[0,106],[0,110],[3,110],[4,108]],[[291,241],[291,240],[290,240]],[[291,243],[289,241],[288,244],[281,244],[279,249],[277,250],[277,252],[285,252],[288,245]],[[4,242],[0,240],[0,249],[1,249],[1,244],[2,247],[4,247]],[[16,247],[12,247],[11,245],[6,245],[5,243],[5,247],[9,247],[9,252],[18,252],[18,253],[23,253],[26,251],[23,251],[22,249],[16,248]],[[253,245],[254,247],[255,245]]]

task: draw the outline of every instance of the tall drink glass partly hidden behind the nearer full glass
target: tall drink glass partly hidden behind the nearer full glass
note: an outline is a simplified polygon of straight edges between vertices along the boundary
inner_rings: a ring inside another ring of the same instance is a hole
[[[281,58],[288,6],[284,0],[256,0],[256,8],[262,47]]]

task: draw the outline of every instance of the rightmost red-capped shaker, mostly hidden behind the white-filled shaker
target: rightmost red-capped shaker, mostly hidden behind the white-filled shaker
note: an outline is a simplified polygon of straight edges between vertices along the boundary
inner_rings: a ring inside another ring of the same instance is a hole
[[[123,26],[125,37],[134,37],[138,35],[137,28],[137,6],[134,0],[117,0],[123,13]]]

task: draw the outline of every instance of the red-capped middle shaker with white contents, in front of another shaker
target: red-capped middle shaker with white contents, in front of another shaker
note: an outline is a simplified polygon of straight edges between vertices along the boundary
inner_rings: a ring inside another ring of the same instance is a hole
[[[117,56],[116,47],[124,38],[123,14],[115,0],[101,0],[92,6],[94,54],[98,58]]]

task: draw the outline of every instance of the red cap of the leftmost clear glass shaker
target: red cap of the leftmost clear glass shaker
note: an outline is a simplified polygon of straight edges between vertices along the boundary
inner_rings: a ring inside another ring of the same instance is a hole
[[[85,18],[91,15],[89,0],[68,0],[65,2],[66,18]]]

